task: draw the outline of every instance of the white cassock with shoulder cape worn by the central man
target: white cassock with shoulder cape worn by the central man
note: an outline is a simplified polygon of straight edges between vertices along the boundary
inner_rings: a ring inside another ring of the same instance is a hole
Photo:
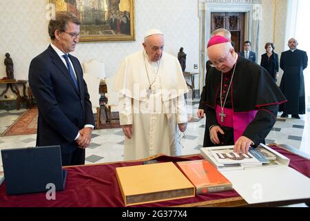
[[[125,137],[124,160],[180,155],[177,124],[187,123],[188,88],[178,59],[163,52],[160,61],[152,62],[145,50],[135,52],[122,62],[114,82],[120,124],[132,124],[134,131],[132,139]]]

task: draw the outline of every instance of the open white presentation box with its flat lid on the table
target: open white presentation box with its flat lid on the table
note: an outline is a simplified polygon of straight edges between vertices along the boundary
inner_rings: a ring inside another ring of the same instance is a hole
[[[260,166],[246,166],[242,163],[231,166],[219,163],[211,153],[216,151],[216,148],[220,147],[200,148],[200,153],[227,177],[247,203],[259,204],[310,198],[309,177],[289,167],[289,158],[269,146],[265,144],[258,146],[260,153],[267,153],[265,157],[269,157],[269,163],[261,162]],[[231,146],[221,148],[229,149]]]

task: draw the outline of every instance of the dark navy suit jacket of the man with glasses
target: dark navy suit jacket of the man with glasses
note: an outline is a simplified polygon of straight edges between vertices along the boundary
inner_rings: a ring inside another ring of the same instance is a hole
[[[62,154],[77,148],[74,139],[85,124],[94,125],[81,64],[76,57],[69,57],[79,89],[52,46],[34,57],[29,68],[29,84],[39,109],[37,146],[61,145]]]

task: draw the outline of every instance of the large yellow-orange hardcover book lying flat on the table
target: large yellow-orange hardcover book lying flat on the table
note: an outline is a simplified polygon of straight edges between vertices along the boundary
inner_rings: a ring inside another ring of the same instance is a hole
[[[116,168],[125,206],[190,198],[195,187],[172,162]]]

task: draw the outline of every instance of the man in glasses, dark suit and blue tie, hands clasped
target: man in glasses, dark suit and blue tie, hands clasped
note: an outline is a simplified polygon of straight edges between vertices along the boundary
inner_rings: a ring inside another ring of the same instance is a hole
[[[94,115],[83,70],[69,55],[79,42],[80,21],[71,12],[57,12],[50,20],[52,43],[29,68],[29,84],[37,99],[37,146],[60,145],[63,166],[85,163]]]

